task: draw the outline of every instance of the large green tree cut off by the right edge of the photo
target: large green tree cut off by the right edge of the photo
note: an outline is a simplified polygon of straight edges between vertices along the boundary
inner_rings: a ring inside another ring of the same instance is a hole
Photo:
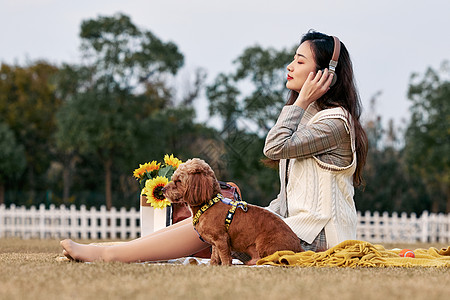
[[[410,172],[420,174],[432,195],[432,211],[450,212],[450,69],[442,63],[428,68],[422,78],[413,74],[408,98],[411,120],[405,135]]]

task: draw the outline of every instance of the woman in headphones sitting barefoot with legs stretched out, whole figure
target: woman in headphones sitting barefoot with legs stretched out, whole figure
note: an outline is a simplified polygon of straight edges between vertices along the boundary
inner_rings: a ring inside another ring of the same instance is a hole
[[[353,183],[359,185],[362,180],[367,139],[359,123],[360,102],[351,62],[345,46],[340,45],[338,79],[330,87],[333,75],[327,68],[333,38],[317,32],[303,37],[287,68],[286,87],[292,91],[288,105],[270,130],[264,148],[266,156],[280,160],[281,191],[268,209],[286,218],[305,250],[322,250],[355,237]],[[320,180],[310,180],[301,171],[303,167]],[[324,201],[324,197],[335,194],[339,195],[331,197],[333,201]],[[61,246],[73,259],[121,262],[178,258],[209,247],[199,239],[191,218],[119,245],[82,245],[64,240]]]

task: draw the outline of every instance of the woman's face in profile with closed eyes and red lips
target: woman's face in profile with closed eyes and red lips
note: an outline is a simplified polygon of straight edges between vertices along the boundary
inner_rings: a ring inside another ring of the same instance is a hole
[[[287,66],[286,87],[299,92],[309,73],[316,73],[316,61],[309,41],[303,42],[295,52],[294,60]]]

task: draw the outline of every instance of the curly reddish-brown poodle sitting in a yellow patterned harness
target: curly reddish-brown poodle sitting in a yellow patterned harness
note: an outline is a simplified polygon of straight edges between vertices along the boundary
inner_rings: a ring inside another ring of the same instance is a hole
[[[220,186],[211,167],[201,159],[181,164],[164,188],[171,202],[185,201],[193,216],[220,193]],[[237,208],[228,230],[225,218],[231,205],[218,201],[198,219],[195,229],[212,245],[211,264],[231,265],[231,250],[251,256],[247,264],[256,262],[279,250],[301,252],[300,239],[277,215],[254,205],[245,212]]]

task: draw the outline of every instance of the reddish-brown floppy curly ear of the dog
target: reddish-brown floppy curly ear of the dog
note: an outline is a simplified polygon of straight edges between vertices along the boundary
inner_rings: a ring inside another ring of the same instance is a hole
[[[185,181],[184,201],[192,206],[199,206],[214,197],[214,181],[205,173],[189,174]]]

